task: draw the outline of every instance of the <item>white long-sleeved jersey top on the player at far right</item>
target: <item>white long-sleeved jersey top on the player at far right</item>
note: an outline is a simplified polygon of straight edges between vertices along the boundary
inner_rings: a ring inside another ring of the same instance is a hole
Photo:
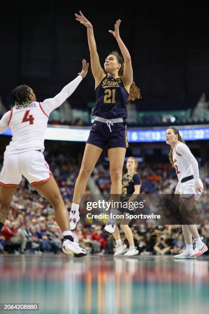
[[[179,183],[183,178],[194,175],[194,182],[199,182],[198,162],[191,150],[182,142],[177,142],[173,148],[173,162]]]

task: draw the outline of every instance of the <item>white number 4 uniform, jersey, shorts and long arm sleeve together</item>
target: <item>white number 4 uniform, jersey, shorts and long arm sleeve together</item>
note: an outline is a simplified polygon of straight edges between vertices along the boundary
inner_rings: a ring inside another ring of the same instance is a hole
[[[3,115],[0,133],[10,126],[12,140],[4,153],[0,185],[19,185],[22,175],[30,184],[51,179],[51,171],[43,155],[49,115],[66,101],[81,81],[82,77],[78,75],[55,97],[43,103],[33,102],[14,106]]]

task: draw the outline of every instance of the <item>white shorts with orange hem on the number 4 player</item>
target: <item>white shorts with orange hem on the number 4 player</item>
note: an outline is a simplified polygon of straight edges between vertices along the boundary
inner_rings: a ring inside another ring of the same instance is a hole
[[[30,150],[5,156],[0,174],[0,185],[18,186],[22,175],[31,185],[51,179],[52,173],[43,153]]]

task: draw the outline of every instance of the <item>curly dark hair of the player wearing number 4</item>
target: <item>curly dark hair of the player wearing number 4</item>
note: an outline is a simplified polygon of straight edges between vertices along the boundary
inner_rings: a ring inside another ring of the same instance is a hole
[[[24,105],[30,103],[29,95],[31,88],[28,85],[19,85],[15,87],[9,94],[9,101],[11,105]]]

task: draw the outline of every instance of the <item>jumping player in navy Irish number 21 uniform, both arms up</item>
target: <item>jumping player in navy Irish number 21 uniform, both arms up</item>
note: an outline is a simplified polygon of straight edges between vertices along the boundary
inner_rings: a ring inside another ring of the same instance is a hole
[[[128,99],[135,100],[140,97],[139,89],[133,82],[131,56],[119,34],[120,19],[115,24],[115,30],[109,32],[116,38],[123,58],[117,52],[109,54],[105,61],[104,71],[99,62],[92,24],[81,11],[80,15],[75,14],[75,16],[78,22],[87,27],[91,69],[95,79],[96,103],[93,115],[96,117],[75,184],[70,211],[71,230],[76,229],[79,221],[78,209],[81,196],[85,192],[89,176],[106,145],[110,161],[111,195],[121,193],[122,167],[128,147],[126,103]]]

